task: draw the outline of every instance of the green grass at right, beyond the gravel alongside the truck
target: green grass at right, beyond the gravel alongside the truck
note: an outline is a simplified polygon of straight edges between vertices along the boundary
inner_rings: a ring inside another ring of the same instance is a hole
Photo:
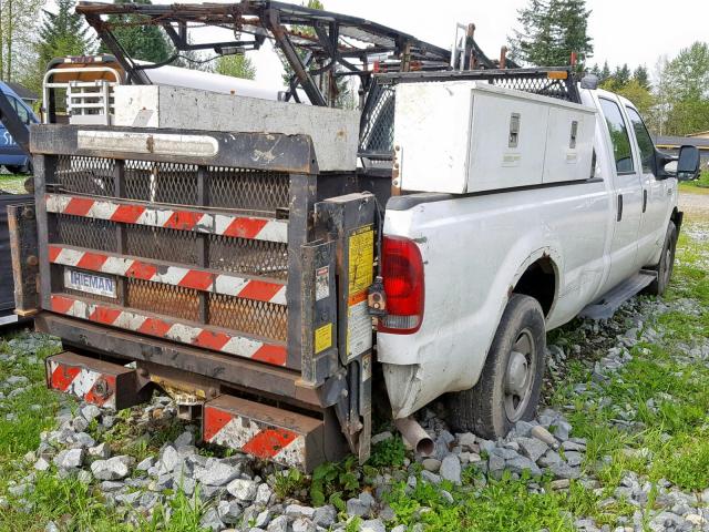
[[[610,457],[598,470],[608,492],[627,471],[645,474],[650,482],[667,479],[682,490],[709,488],[709,365],[684,355],[709,338],[709,242],[693,242],[682,234],[677,253],[675,278],[665,300],[691,300],[695,310],[671,310],[646,321],[645,328],[662,331],[661,339],[631,349],[633,359],[600,385],[596,397],[605,398],[604,402],[573,392],[572,382],[589,381],[590,369],[584,365],[568,386],[552,395],[557,408],[573,406],[568,418],[574,436],[588,441],[586,467]],[[654,408],[648,401],[654,401]],[[630,419],[638,423],[635,430],[614,426],[619,410],[635,412]]]

